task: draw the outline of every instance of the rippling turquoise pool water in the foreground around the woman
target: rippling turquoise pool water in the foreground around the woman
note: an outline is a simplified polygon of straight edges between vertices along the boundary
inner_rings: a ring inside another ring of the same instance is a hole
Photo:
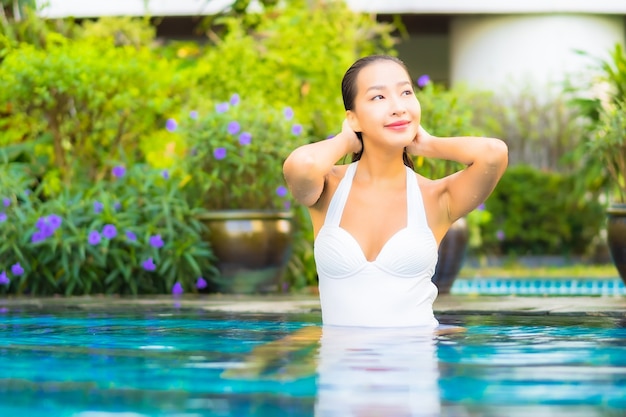
[[[625,416],[626,322],[450,316],[465,332],[317,314],[3,310],[0,416]]]

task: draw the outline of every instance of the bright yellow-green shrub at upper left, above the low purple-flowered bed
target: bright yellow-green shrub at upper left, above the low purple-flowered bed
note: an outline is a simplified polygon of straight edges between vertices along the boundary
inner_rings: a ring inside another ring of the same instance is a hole
[[[140,160],[138,142],[184,98],[174,66],[147,48],[52,39],[46,50],[16,47],[0,65],[0,145],[43,142],[33,156],[51,194],[97,181],[110,160]]]

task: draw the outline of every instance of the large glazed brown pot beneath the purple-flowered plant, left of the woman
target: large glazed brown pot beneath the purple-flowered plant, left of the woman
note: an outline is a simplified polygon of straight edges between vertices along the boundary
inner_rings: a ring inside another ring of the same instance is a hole
[[[278,292],[292,248],[292,213],[212,211],[202,217],[220,275],[210,290],[220,293]]]

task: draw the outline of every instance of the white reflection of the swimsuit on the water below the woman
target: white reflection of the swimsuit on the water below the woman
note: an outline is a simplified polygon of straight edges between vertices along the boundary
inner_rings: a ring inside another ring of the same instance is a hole
[[[317,417],[440,414],[432,331],[325,326],[317,375]]]

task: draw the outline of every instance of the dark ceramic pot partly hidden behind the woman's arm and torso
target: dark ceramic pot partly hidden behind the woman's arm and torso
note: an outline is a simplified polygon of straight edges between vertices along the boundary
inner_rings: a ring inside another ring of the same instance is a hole
[[[439,244],[439,261],[433,275],[433,283],[439,294],[448,294],[452,284],[463,266],[469,230],[467,220],[461,217],[454,222]]]

